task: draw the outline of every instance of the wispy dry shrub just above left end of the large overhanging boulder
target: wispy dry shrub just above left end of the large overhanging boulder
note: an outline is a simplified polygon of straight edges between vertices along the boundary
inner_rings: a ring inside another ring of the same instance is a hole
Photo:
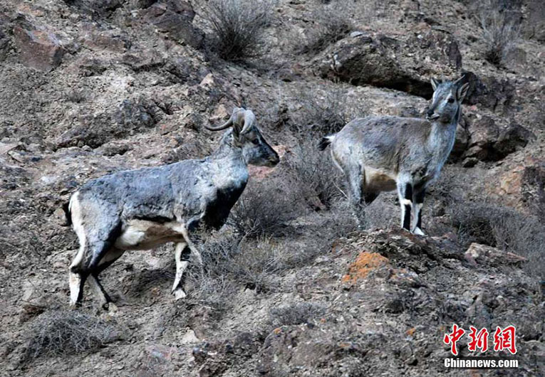
[[[340,41],[353,31],[353,4],[350,1],[328,1],[313,11],[313,23],[309,28],[303,53],[318,53],[327,46]]]

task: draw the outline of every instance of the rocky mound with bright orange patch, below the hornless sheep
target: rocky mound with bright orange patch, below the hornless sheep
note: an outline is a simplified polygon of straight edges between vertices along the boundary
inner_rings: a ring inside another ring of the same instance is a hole
[[[390,375],[393,370],[438,376],[448,355],[441,346],[447,327],[494,329],[510,324],[514,312],[521,324],[517,356],[528,361],[521,373],[539,368],[530,360],[545,351],[534,348],[534,340],[543,336],[545,312],[539,284],[518,267],[524,257],[476,243],[463,250],[450,238],[400,229],[355,233],[333,250],[299,283],[303,295],[302,285],[320,287],[308,294],[306,307],[291,307],[299,316],[284,316],[264,340],[242,333],[199,344],[193,356],[200,375],[243,366],[259,350],[256,368],[264,376]],[[320,301],[321,294],[331,300]],[[467,339],[458,344],[462,356],[472,354]]]

